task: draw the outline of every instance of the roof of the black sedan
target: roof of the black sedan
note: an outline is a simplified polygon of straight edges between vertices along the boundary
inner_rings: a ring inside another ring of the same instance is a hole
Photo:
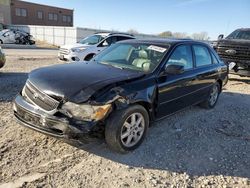
[[[201,42],[193,39],[175,39],[175,38],[168,38],[168,39],[133,39],[133,40],[125,40],[119,43],[145,43],[145,44],[154,44],[154,45],[162,45],[162,46],[169,46],[169,45],[176,45],[180,43],[195,43],[195,44],[205,44],[208,45],[206,42]]]

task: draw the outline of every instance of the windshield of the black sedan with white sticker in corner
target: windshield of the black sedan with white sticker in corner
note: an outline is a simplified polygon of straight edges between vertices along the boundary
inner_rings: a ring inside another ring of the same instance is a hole
[[[94,58],[101,64],[150,73],[160,64],[169,46],[117,43]]]

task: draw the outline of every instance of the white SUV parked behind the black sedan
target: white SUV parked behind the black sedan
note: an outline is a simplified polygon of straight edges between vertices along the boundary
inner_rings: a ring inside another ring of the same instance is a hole
[[[134,37],[126,33],[97,33],[80,40],[77,44],[61,46],[58,58],[69,62],[89,61],[111,44],[127,39]]]

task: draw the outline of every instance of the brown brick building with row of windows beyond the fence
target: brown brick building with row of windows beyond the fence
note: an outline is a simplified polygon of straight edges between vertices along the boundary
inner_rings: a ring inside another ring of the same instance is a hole
[[[72,9],[19,0],[0,0],[0,23],[6,25],[73,26]]]

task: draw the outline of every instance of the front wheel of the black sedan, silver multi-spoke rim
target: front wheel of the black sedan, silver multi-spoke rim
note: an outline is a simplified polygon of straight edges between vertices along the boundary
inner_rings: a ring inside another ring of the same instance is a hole
[[[136,149],[143,141],[149,126],[149,116],[141,105],[114,112],[105,127],[109,147],[124,153]]]

